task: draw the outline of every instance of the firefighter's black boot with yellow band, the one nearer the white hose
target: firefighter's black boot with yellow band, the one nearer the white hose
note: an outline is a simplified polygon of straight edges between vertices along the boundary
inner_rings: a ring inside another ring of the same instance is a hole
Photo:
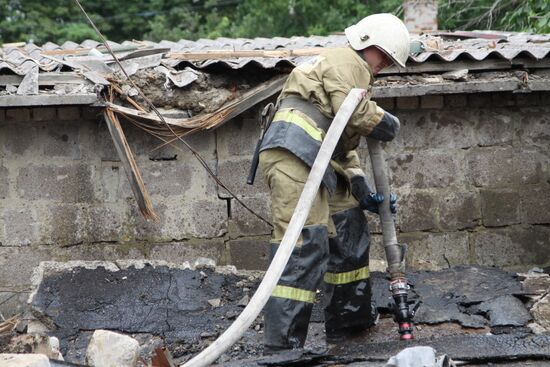
[[[303,244],[292,252],[273,295],[264,307],[264,353],[302,348],[311,310],[328,261],[324,226],[302,230]],[[271,259],[278,245],[271,249]]]

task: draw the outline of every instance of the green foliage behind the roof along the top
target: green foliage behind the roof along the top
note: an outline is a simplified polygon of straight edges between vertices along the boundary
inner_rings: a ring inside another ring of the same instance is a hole
[[[402,0],[81,0],[107,38],[152,41],[342,32]],[[550,32],[548,0],[439,0],[442,29]],[[0,43],[98,39],[74,0],[0,0]]]

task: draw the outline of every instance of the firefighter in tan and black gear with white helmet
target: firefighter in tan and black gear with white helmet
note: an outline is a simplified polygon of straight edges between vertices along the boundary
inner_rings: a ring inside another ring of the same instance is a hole
[[[377,212],[384,198],[368,184],[355,149],[361,136],[390,141],[399,130],[399,120],[371,101],[370,91],[380,70],[405,66],[409,33],[399,18],[374,14],[345,34],[348,47],[326,49],[290,73],[260,148],[260,169],[271,191],[273,258],[334,115],[352,88],[369,92],[338,142],[296,248],[264,308],[267,353],[303,347],[323,281],[327,340],[365,330],[376,320],[363,210]],[[395,200],[390,200],[393,210]]]

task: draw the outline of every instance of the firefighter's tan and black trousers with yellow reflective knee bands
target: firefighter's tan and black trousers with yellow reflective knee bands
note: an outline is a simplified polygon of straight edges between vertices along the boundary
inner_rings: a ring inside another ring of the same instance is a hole
[[[271,190],[273,258],[310,168],[284,149],[263,151],[260,167]],[[267,350],[303,347],[315,295],[323,282],[328,297],[327,335],[373,324],[369,243],[365,215],[345,180],[339,180],[330,196],[321,185],[296,248],[264,308]]]

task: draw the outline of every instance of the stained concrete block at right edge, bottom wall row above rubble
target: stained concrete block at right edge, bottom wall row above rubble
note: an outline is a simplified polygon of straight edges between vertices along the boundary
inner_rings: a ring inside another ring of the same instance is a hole
[[[550,229],[514,226],[472,234],[476,263],[510,267],[545,266],[550,262]]]

